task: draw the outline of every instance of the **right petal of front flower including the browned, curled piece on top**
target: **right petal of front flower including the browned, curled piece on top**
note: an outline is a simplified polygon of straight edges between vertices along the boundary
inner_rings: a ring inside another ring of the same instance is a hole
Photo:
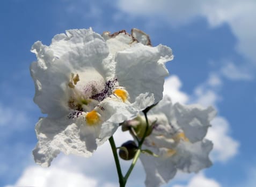
[[[162,82],[168,75],[164,64],[173,59],[172,50],[164,45],[147,46],[148,35],[138,29],[132,29],[132,35],[122,30],[112,35],[106,32],[103,37],[109,49],[108,58],[116,63],[115,75],[128,91],[130,102],[146,92],[154,93],[155,102],[162,99]]]

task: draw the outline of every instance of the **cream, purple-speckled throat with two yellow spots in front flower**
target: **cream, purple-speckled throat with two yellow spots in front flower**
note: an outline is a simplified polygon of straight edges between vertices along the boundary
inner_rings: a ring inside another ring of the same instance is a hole
[[[93,68],[71,73],[68,87],[68,106],[70,108],[68,118],[84,115],[86,124],[89,126],[102,122],[100,114],[104,112],[105,108],[101,106],[100,102],[106,97],[115,95],[120,98],[120,102],[126,102],[129,97],[125,88],[118,85],[116,77],[106,81]]]

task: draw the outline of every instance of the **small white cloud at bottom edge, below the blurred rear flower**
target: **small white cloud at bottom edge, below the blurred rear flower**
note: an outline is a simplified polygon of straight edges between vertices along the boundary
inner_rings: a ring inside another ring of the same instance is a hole
[[[221,184],[203,174],[195,175],[187,185],[173,185],[173,187],[221,187]]]

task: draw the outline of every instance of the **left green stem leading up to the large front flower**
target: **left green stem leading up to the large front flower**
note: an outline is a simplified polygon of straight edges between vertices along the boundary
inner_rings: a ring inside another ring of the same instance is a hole
[[[116,170],[118,172],[118,178],[119,178],[120,187],[125,187],[126,181],[125,181],[125,179],[123,178],[123,175],[122,175],[122,170],[121,170],[121,166],[120,166],[120,162],[119,162],[119,158],[118,158],[118,153],[116,152],[116,146],[115,146],[115,141],[114,141],[113,136],[111,136],[108,139],[108,141],[109,141],[109,143],[111,145],[111,149],[112,149],[112,152],[113,152],[113,155],[114,155],[115,166],[116,166]]]

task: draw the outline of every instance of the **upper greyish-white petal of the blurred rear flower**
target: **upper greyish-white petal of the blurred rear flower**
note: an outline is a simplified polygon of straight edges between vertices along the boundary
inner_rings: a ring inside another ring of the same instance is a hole
[[[176,129],[182,129],[190,142],[198,142],[206,136],[210,121],[216,115],[213,107],[203,108],[200,105],[172,105],[171,98],[164,96],[149,114],[164,114],[169,124]]]

